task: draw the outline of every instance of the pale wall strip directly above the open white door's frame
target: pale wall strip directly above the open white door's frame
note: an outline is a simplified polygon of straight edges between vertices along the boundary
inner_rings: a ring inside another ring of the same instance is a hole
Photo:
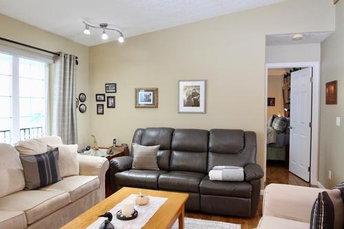
[[[266,63],[321,61],[320,43],[266,46]]]

